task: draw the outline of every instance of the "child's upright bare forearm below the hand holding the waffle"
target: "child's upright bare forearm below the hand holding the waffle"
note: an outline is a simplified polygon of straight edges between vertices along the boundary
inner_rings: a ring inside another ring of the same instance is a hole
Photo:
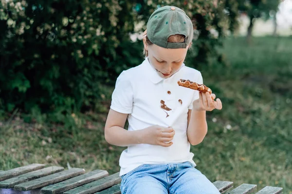
[[[188,111],[187,139],[191,145],[200,144],[207,134],[206,111]]]

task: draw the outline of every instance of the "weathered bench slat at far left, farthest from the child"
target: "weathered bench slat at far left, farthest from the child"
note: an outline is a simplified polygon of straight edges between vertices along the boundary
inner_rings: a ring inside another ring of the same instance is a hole
[[[0,172],[0,181],[6,180],[8,178],[16,177],[18,175],[22,175],[31,171],[35,171],[44,167],[45,167],[44,164],[33,163],[27,166],[22,166],[22,167],[14,168],[11,170],[3,171],[3,172]]]

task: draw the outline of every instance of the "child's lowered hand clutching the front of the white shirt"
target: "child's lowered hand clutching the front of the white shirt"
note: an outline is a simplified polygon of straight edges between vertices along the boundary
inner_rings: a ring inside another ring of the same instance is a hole
[[[174,129],[171,127],[150,126],[141,129],[141,143],[168,147],[173,144],[170,141],[173,139],[174,133]]]

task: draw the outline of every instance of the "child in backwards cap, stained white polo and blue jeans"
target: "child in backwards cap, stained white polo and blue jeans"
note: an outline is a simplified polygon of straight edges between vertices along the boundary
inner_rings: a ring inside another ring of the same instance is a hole
[[[202,142],[206,111],[221,109],[221,101],[177,83],[203,82],[199,71],[183,64],[192,37],[193,25],[183,10],[157,9],[147,22],[144,62],[116,81],[105,139],[128,146],[120,157],[122,194],[219,194],[195,168],[190,145]]]

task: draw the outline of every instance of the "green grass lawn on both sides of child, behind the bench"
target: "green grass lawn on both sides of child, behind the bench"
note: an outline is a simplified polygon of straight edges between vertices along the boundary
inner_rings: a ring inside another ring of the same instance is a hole
[[[204,83],[223,109],[207,113],[208,134],[192,146],[197,168],[211,181],[229,180],[284,188],[292,194],[292,38],[229,38],[220,52],[226,65],[201,67]],[[109,99],[112,88],[106,97]],[[73,115],[73,128],[24,124],[18,113],[0,124],[0,169],[29,163],[119,171],[124,147],[104,140],[109,101],[100,113]],[[85,125],[79,125],[86,118]],[[79,126],[79,127],[78,127]],[[80,127],[86,126],[86,127]]]

